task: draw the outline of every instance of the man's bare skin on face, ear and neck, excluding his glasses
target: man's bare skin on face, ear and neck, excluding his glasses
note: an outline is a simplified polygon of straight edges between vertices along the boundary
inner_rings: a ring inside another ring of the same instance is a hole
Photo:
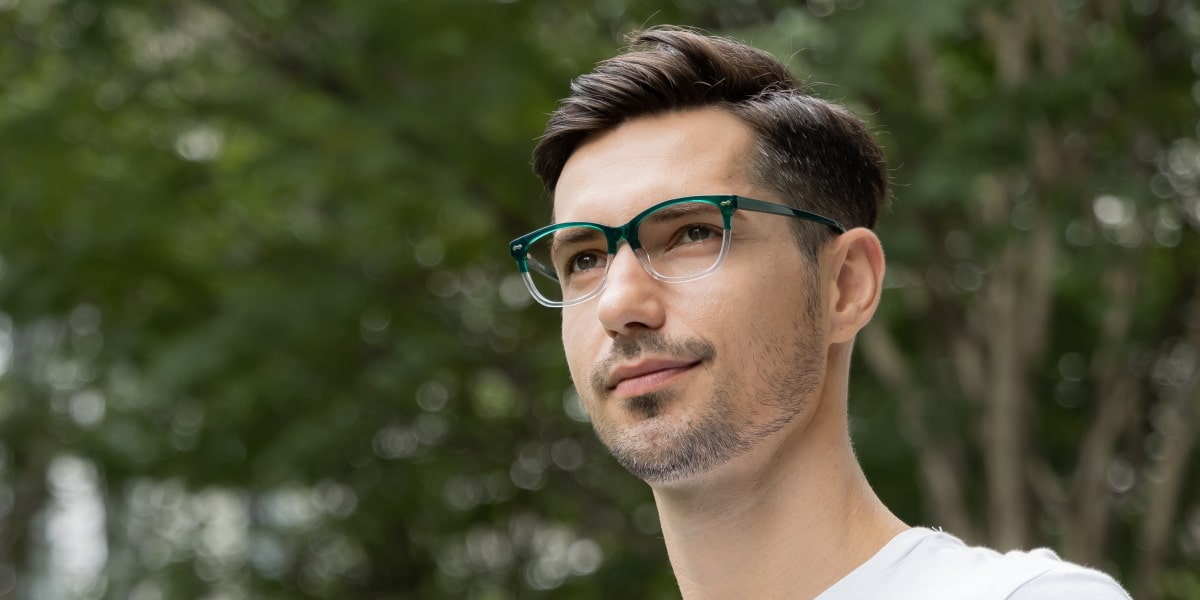
[[[750,182],[752,140],[718,108],[630,120],[571,155],[556,218],[619,224],[694,194],[780,202]],[[814,264],[792,227],[736,214],[726,263],[686,283],[654,280],[622,246],[605,290],[563,310],[583,404],[654,490],[689,599],[814,598],[906,528],[868,486],[846,424],[851,346],[883,277],[878,240],[852,229]]]

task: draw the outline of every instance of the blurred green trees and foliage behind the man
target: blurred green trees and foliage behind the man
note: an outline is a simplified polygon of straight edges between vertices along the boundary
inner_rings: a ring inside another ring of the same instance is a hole
[[[0,598],[677,598],[506,252],[660,23],[887,149],[883,499],[1200,598],[1190,0],[0,0]]]

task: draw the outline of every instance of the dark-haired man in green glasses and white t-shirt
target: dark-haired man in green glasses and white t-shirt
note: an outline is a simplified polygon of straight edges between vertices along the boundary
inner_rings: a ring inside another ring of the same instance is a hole
[[[534,168],[554,224],[514,240],[562,307],[596,434],[654,491],[688,599],[1127,599],[1051,552],[910,528],[851,448],[851,348],[880,301],[884,158],[767,53],[637,34],[580,77]]]

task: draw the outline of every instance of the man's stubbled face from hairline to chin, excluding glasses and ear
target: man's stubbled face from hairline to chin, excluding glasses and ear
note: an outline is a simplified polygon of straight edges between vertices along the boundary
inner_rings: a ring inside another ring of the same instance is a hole
[[[751,131],[707,108],[641,118],[575,151],[554,191],[558,222],[625,223],[670,198],[778,202],[746,176]],[[563,308],[563,346],[596,434],[635,475],[672,482],[803,430],[823,384],[815,266],[792,220],[737,212],[725,264],[665,283],[628,245],[607,287]]]

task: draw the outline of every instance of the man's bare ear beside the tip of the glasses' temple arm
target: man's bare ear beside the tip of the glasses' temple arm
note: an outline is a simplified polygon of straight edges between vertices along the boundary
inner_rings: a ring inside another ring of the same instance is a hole
[[[826,247],[828,264],[827,340],[850,342],[866,326],[883,292],[883,246],[865,227],[851,229]]]

